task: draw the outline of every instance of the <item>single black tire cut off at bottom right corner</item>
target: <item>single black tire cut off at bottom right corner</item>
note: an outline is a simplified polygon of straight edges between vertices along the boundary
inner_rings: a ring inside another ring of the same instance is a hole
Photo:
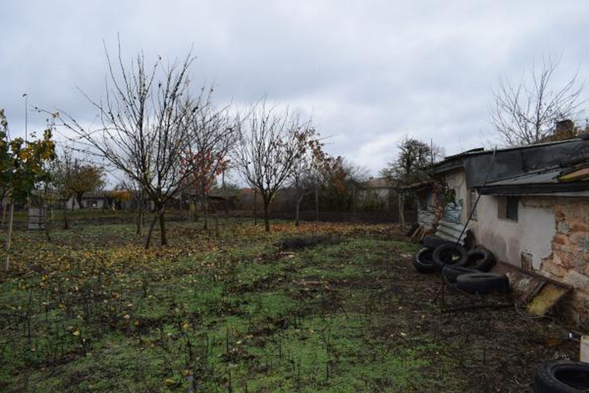
[[[534,393],[589,391],[589,363],[568,360],[545,362],[534,378]]]

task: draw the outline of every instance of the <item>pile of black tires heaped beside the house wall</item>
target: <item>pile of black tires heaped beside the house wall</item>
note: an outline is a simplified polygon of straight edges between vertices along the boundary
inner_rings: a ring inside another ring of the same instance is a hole
[[[466,251],[461,245],[436,236],[423,238],[423,247],[413,255],[413,267],[421,273],[441,272],[445,281],[469,294],[507,292],[505,274],[489,273],[495,256],[487,249]]]

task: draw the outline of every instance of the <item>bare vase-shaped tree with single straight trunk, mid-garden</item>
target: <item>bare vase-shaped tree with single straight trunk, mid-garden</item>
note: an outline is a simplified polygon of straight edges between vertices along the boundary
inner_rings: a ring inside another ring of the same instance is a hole
[[[240,125],[234,161],[243,178],[264,202],[264,223],[270,231],[269,207],[278,189],[292,178],[315,130],[287,109],[268,108],[260,101]]]

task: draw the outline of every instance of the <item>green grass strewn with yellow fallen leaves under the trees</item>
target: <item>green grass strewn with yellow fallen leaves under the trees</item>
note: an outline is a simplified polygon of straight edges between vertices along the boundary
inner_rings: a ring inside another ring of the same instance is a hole
[[[435,337],[400,335],[414,317],[395,312],[391,264],[414,245],[355,234],[281,257],[279,234],[226,228],[211,244],[189,227],[147,254],[131,225],[33,248],[42,255],[0,284],[0,390],[460,391]],[[100,249],[105,235],[130,243]],[[16,255],[35,236],[21,234]],[[43,255],[55,261],[34,262]]]

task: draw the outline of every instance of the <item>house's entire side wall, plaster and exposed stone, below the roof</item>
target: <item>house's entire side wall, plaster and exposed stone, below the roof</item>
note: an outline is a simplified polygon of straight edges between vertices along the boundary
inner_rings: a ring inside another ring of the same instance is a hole
[[[455,190],[456,202],[462,201],[465,224],[474,190],[466,188],[462,169],[447,172],[444,179]],[[477,244],[501,261],[570,285],[575,290],[563,311],[589,327],[589,193],[519,195],[517,219],[507,218],[507,199],[502,198],[507,196],[479,199],[468,224]]]

